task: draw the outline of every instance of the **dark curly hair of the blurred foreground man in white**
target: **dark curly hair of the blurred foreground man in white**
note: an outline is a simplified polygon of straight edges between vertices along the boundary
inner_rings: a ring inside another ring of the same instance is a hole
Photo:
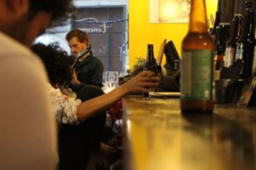
[[[52,14],[53,20],[67,17],[74,11],[72,0],[30,0],[30,17],[38,11],[45,11]]]

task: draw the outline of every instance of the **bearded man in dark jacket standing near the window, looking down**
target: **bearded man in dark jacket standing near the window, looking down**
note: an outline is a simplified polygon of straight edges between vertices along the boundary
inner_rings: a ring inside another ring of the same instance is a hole
[[[82,30],[74,29],[66,35],[66,40],[69,44],[70,51],[74,57],[79,57],[80,53],[88,47],[88,35]],[[103,63],[100,59],[93,57],[92,52],[88,49],[88,53],[83,55],[77,65],[75,72],[77,78],[83,84],[91,84],[102,87],[103,81]]]

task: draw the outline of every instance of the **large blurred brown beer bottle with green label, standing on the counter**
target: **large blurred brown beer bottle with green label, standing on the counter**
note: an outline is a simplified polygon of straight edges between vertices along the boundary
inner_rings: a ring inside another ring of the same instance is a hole
[[[207,31],[205,0],[192,0],[189,32],[182,41],[182,113],[213,111],[213,50],[213,40]]]

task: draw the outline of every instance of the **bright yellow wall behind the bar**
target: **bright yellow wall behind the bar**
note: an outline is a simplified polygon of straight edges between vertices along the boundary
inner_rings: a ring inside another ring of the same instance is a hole
[[[129,0],[129,68],[136,62],[136,57],[146,58],[147,44],[154,44],[157,57],[163,39],[173,40],[181,55],[181,42],[187,34],[188,23],[149,23],[149,1]],[[207,17],[210,18],[210,14],[215,17],[218,0],[206,0],[206,3]]]

